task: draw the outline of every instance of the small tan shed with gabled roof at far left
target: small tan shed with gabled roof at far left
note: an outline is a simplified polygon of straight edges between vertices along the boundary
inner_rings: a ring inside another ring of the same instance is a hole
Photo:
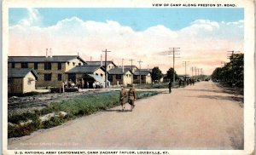
[[[36,89],[38,73],[29,68],[8,69],[8,93],[24,94]]]

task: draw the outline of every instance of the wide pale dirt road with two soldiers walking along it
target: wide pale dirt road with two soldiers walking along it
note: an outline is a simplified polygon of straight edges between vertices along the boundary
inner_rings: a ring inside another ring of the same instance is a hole
[[[9,141],[9,149],[243,149],[240,96],[212,82],[173,89]]]

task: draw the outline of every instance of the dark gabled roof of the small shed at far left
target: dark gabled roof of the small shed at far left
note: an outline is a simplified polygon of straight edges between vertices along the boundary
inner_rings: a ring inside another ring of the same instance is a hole
[[[25,78],[29,72],[38,78],[38,73],[32,68],[8,68],[8,78]]]

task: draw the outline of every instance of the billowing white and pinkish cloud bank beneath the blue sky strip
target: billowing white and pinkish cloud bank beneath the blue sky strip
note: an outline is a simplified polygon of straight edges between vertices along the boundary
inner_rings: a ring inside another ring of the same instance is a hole
[[[100,60],[103,49],[112,52],[109,60],[117,65],[124,58],[143,60],[142,67],[160,66],[163,72],[172,66],[172,55],[162,52],[172,47],[180,49],[176,60],[177,72],[183,73],[183,60],[199,66],[211,74],[217,62],[226,60],[227,50],[243,50],[243,20],[216,22],[195,20],[189,26],[172,31],[166,26],[152,26],[142,32],[135,32],[129,26],[117,21],[96,22],[72,17],[60,20],[54,26],[39,27],[38,11],[32,9],[28,22],[22,21],[9,27],[9,55],[44,55],[51,48],[53,55],[80,55],[85,60]],[[138,64],[136,64],[138,65]]]

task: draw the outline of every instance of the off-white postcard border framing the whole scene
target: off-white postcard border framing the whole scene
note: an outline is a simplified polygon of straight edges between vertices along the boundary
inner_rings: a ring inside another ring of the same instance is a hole
[[[244,86],[244,150],[170,150],[170,154],[253,154],[254,153],[254,3],[253,0],[9,0],[3,1],[3,154],[7,150],[7,61],[9,44],[9,8],[151,8],[152,3],[236,3],[245,14],[245,86]],[[30,150],[31,151],[31,150]],[[36,150],[33,150],[36,151]],[[42,151],[42,150],[41,150]],[[65,150],[61,150],[62,152]],[[69,150],[66,150],[69,151]],[[111,151],[111,150],[108,150]],[[161,150],[162,151],[162,150]]]

